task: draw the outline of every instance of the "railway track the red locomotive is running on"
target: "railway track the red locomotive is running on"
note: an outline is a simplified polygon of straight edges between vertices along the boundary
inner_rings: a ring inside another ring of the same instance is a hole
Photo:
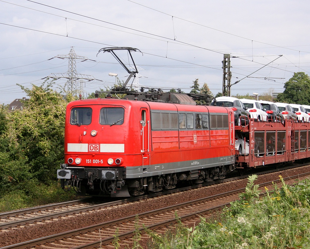
[[[294,167],[296,166],[286,167],[285,169],[290,169]],[[266,173],[271,173],[271,172],[275,172],[278,170],[280,169],[270,170],[267,172],[265,171],[265,172],[258,173],[258,174],[266,174]],[[202,186],[209,186],[209,185],[224,183],[227,181],[244,179],[247,176],[248,175],[238,176],[238,177],[228,178],[224,180],[219,180],[217,182],[209,182],[209,183],[204,183],[201,185],[172,189],[172,190],[168,190],[165,192],[154,193],[151,195],[143,195],[143,196],[139,196],[135,198],[126,198],[126,199],[112,201],[112,202],[104,202],[104,203],[101,202],[100,203],[98,201],[95,201],[95,198],[85,198],[85,199],[80,199],[76,201],[55,203],[55,204],[50,204],[50,205],[45,205],[45,206],[40,206],[40,207],[32,207],[32,208],[27,208],[27,209],[22,209],[22,210],[0,213],[0,232],[7,232],[8,231],[7,229],[10,229],[10,228],[16,229],[17,227],[24,227],[25,225],[34,224],[34,223],[41,224],[41,223],[48,222],[53,219],[58,219],[59,217],[76,215],[82,212],[100,210],[100,209],[104,209],[104,208],[111,207],[111,206],[116,206],[116,205],[121,205],[125,203],[131,203],[131,202],[143,200],[146,198],[155,198],[155,197],[166,195],[166,194],[182,192],[182,191],[186,191],[189,189],[196,189]]]

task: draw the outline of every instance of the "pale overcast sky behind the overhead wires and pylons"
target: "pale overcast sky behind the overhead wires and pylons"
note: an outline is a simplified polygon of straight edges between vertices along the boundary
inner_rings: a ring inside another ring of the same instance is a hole
[[[0,8],[4,104],[26,97],[17,83],[31,87],[52,73],[65,75],[68,60],[53,57],[68,55],[71,47],[90,59],[76,60],[78,73],[96,79],[83,83],[86,93],[112,86],[115,78],[108,73],[126,80],[112,54],[97,56],[114,46],[143,53],[132,56],[146,87],[189,92],[198,78],[215,95],[222,91],[224,54],[231,56],[232,83],[242,79],[232,95],[282,92],[294,72],[310,75],[308,0],[7,0]],[[128,63],[127,55],[119,55]],[[65,84],[58,79],[55,88]]]

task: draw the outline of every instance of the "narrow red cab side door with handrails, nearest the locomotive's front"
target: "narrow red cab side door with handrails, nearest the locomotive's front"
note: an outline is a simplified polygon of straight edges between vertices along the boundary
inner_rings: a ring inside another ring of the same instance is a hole
[[[150,167],[150,119],[148,109],[141,109],[140,135],[143,173]]]

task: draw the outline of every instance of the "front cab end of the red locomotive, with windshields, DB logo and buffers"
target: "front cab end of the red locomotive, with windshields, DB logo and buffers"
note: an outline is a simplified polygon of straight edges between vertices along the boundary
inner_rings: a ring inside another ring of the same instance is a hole
[[[67,107],[65,163],[58,170],[62,187],[73,186],[78,194],[130,196],[126,167],[143,164],[148,150],[146,109],[140,116],[124,100],[122,105],[105,99],[77,100]],[[128,129],[132,127],[132,129]]]

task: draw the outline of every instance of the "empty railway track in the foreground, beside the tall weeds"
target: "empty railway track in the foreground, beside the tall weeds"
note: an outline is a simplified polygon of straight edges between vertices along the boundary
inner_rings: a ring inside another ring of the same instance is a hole
[[[284,178],[287,184],[294,184],[294,179],[302,180],[309,176],[310,172],[290,176]],[[273,182],[276,182],[275,180]],[[271,189],[272,182],[260,184],[260,190],[264,190],[267,186]],[[175,213],[183,222],[187,221],[188,225],[193,225],[199,222],[199,216],[207,216],[212,210],[228,205],[229,202],[237,200],[239,193],[243,189],[228,191],[225,193],[213,195],[206,198],[200,198],[194,201],[178,203],[169,207],[159,208],[153,211],[147,211],[138,214],[138,220],[135,215],[122,217],[120,219],[111,220],[96,225],[87,226],[81,229],[74,229],[68,232],[58,233],[40,239],[35,239],[28,242],[19,243],[3,247],[8,248],[94,248],[104,245],[104,248],[114,248],[111,242],[114,240],[118,229],[121,241],[121,246],[132,246],[133,240],[131,237],[138,229],[144,233],[143,224],[148,229],[159,229],[158,233],[164,231],[164,227],[176,222]],[[142,235],[142,238],[147,238]],[[40,245],[40,246],[39,246]]]

